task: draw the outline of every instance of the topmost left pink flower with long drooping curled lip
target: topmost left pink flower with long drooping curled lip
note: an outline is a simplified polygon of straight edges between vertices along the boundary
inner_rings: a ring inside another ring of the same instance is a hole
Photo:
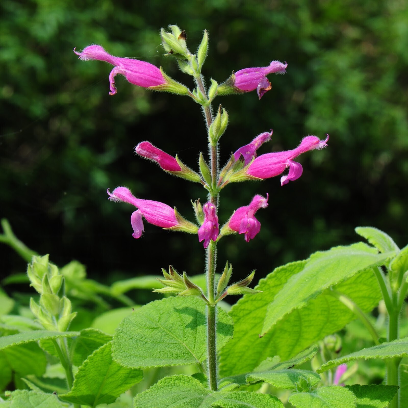
[[[109,95],[115,95],[115,75],[122,74],[131,83],[144,88],[150,86],[158,86],[165,84],[160,69],[153,64],[145,61],[133,60],[132,58],[119,58],[107,53],[100,45],[89,45],[82,52],[75,51],[79,55],[80,60],[99,60],[106,61],[109,64],[115,65],[115,68],[109,74],[109,82],[111,84],[111,92]]]

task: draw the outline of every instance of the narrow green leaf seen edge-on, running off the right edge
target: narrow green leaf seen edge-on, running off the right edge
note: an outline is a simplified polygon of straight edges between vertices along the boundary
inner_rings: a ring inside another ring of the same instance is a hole
[[[362,350],[356,351],[339,357],[334,360],[327,361],[322,367],[317,369],[318,373],[329,370],[340,364],[347,363],[348,361],[354,361],[358,359],[372,359],[372,358],[394,358],[394,357],[407,357],[408,356],[408,337],[404,339],[394,340],[389,343],[382,343],[378,346],[373,346],[369,348],[363,348]]]

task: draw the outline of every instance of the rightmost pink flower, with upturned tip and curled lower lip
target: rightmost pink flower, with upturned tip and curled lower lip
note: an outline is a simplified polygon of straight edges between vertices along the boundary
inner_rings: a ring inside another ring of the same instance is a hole
[[[325,140],[320,140],[316,136],[306,136],[296,149],[260,155],[248,167],[246,173],[253,177],[265,179],[281,174],[289,166],[289,173],[281,177],[281,185],[296,180],[302,175],[303,168],[300,163],[294,162],[293,159],[306,151],[326,147],[329,135],[326,134],[326,136]]]

